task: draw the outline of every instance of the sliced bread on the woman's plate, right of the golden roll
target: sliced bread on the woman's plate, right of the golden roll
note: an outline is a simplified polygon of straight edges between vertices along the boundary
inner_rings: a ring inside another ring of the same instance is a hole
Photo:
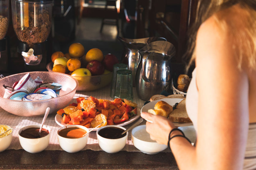
[[[181,102],[176,106],[168,117],[172,122],[179,122],[179,123],[188,123],[191,120],[188,117],[186,111],[186,99],[181,100]]]

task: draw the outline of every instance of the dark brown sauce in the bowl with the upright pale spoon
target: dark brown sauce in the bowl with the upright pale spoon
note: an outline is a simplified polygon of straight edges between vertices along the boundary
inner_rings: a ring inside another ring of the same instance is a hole
[[[23,138],[29,138],[29,139],[36,139],[36,138],[42,138],[49,134],[49,131],[47,129],[42,128],[42,131],[39,135],[39,127],[30,127],[25,130],[22,130],[19,134]]]

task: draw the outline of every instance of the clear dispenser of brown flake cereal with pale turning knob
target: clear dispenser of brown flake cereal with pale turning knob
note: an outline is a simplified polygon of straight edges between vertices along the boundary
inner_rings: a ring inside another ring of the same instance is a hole
[[[53,0],[12,0],[13,29],[19,40],[18,53],[27,65],[38,65],[42,59],[46,61],[52,6]]]

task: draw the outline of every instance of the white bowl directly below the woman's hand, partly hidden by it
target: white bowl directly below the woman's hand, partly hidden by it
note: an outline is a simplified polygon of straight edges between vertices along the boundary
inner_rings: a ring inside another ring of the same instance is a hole
[[[167,145],[158,144],[156,141],[153,141],[153,140],[145,141],[143,140],[142,137],[137,136],[137,134],[135,134],[140,130],[143,132],[143,136],[145,135],[149,137],[149,134],[145,131],[145,129],[146,129],[146,125],[140,125],[140,126],[134,127],[133,130],[131,131],[131,140],[137,149],[139,149],[141,152],[146,154],[157,154],[167,148]]]

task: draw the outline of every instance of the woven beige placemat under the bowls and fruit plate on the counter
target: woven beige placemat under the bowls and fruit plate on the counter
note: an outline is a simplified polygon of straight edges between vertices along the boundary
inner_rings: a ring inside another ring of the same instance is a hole
[[[107,99],[107,100],[113,100],[109,96],[109,87],[105,87],[103,89],[97,90],[97,91],[92,91],[92,92],[76,92],[75,96],[73,97],[73,100],[70,103],[75,102],[76,103],[76,98],[77,97],[89,97],[93,96],[98,99]],[[137,96],[136,89],[134,88],[134,102],[138,104],[139,108],[142,108],[143,104],[145,101],[140,100]],[[50,127],[51,129],[51,138],[50,138],[50,144],[45,150],[62,150],[62,148],[59,146],[58,138],[57,138],[57,131],[61,127],[55,122],[55,116],[56,114],[50,114],[46,121],[45,125]],[[8,125],[11,127],[14,127],[13,129],[13,139],[10,144],[10,147],[7,149],[22,149],[22,146],[19,143],[19,137],[18,137],[18,132],[19,130],[28,125],[40,125],[42,122],[43,117],[20,117],[16,116],[14,114],[10,114],[4,109],[0,108],[0,124],[2,125]],[[128,125],[125,125],[125,128],[128,128],[129,126],[133,125],[137,120],[134,122],[131,122]],[[139,125],[145,125],[146,121],[143,120],[142,123]],[[96,136],[96,131],[92,131],[89,134],[88,142],[85,146],[84,149],[91,149],[94,151],[102,151],[102,149],[99,147],[98,141],[97,141],[97,136]],[[128,133],[128,139],[126,141],[125,147],[122,149],[128,152],[140,152],[139,149],[134,147],[132,141],[131,141],[131,130]],[[163,152],[171,152],[169,149],[165,149]]]

